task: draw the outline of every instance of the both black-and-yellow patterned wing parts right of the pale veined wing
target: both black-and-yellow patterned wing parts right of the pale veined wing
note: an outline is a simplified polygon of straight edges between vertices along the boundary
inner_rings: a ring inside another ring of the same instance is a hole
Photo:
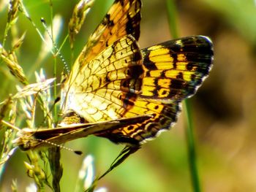
[[[107,131],[101,137],[140,145],[173,126],[182,99],[195,94],[211,69],[211,40],[195,36],[164,42],[141,50],[143,82],[140,95],[124,117],[153,114],[143,123]]]

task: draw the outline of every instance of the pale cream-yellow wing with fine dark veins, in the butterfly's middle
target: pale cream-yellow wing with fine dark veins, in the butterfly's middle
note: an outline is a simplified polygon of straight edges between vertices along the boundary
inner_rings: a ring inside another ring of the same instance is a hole
[[[81,69],[71,85],[64,86],[62,112],[75,111],[88,122],[121,118],[133,106],[142,77],[140,49],[131,35],[124,36]]]

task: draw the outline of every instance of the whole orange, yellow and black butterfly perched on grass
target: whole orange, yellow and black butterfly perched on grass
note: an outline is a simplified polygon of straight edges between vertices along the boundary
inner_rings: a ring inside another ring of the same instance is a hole
[[[28,150],[60,144],[95,128],[89,133],[138,147],[173,126],[181,101],[208,76],[213,45],[208,37],[192,36],[140,49],[140,9],[140,0],[114,1],[62,82],[66,128],[47,137],[44,131],[23,131],[18,145]]]

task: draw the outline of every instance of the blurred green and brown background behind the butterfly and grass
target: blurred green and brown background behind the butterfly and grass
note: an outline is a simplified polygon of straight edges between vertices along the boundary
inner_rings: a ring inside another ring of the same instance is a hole
[[[89,12],[83,31],[78,34],[74,54],[86,43],[94,28],[102,20],[113,1],[96,0]],[[48,1],[23,2],[40,31],[40,18],[50,21]],[[64,23],[59,41],[67,35],[67,24],[77,1],[53,1],[53,15],[59,14]],[[7,7],[0,1],[0,39],[4,35]],[[180,37],[202,34],[214,42],[214,68],[192,102],[195,125],[197,165],[202,191],[256,191],[256,3],[253,0],[179,0],[175,1],[177,28]],[[143,1],[140,47],[147,47],[172,39],[167,20],[166,1]],[[18,36],[26,31],[18,61],[29,82],[35,82],[32,67],[42,67],[53,77],[53,57],[38,62],[42,40],[23,15],[18,18]],[[8,44],[7,44],[8,47]],[[67,63],[72,59],[69,43],[61,50]],[[63,64],[58,61],[59,72]],[[0,100],[15,93],[18,82],[0,66]],[[171,131],[143,145],[99,183],[108,191],[192,191],[190,181],[184,113]],[[107,139],[89,137],[67,143],[67,147],[94,155],[97,175],[103,173],[116,158],[122,146]],[[64,176],[62,191],[75,188],[83,157],[67,150],[61,151]],[[32,182],[23,166],[26,153],[17,150],[7,163],[1,177],[0,191],[10,191],[12,180],[17,180],[20,191]],[[46,189],[47,191],[47,189]]]

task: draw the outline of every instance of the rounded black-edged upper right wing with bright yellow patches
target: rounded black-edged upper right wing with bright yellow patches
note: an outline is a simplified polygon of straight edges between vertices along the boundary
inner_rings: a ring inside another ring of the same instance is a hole
[[[145,76],[140,95],[147,99],[181,100],[192,96],[211,69],[212,43],[193,36],[141,50]]]

